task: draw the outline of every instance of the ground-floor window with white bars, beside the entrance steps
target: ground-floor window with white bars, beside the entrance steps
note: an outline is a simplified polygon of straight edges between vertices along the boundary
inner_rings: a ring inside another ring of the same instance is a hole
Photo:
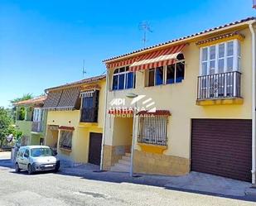
[[[166,146],[167,119],[164,115],[139,116],[138,142]]]

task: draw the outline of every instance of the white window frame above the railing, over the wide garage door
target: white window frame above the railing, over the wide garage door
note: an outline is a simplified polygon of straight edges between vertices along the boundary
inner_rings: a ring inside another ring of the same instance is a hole
[[[233,55],[227,55],[227,50],[228,50],[228,43],[229,42],[233,42],[234,43],[234,46],[233,46]],[[222,44],[225,44],[225,55],[224,57],[221,57],[219,58],[219,46],[222,45]],[[202,65],[203,63],[207,62],[207,74],[206,75],[209,75],[210,74],[210,47],[211,46],[215,46],[215,74],[220,74],[219,73],[219,60],[221,59],[224,59],[224,73],[228,72],[227,71],[227,60],[228,60],[228,57],[233,57],[233,69],[232,69],[232,72],[233,71],[239,71],[240,68],[239,68],[239,62],[238,60],[240,59],[241,60],[241,56],[239,55],[239,51],[241,50],[241,46],[240,46],[240,42],[239,40],[235,39],[235,40],[231,40],[231,41],[224,41],[224,42],[220,42],[218,44],[213,44],[213,45],[210,45],[210,46],[204,46],[204,47],[201,47],[200,48],[200,75],[203,76],[203,70],[202,70]],[[203,49],[207,48],[207,52],[208,52],[208,55],[207,55],[207,60],[203,61],[202,58],[203,58]]]

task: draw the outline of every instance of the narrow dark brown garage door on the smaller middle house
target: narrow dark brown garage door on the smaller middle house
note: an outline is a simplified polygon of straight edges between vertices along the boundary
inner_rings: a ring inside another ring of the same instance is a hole
[[[89,163],[100,164],[102,133],[93,133],[89,135]]]

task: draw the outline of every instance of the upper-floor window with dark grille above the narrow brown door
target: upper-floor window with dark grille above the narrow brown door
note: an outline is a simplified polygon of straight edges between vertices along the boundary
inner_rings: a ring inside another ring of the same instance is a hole
[[[98,122],[99,90],[81,93],[80,122]]]

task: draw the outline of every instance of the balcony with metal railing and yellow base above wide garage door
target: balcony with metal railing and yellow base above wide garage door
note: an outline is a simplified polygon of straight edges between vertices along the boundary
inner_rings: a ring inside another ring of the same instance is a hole
[[[197,105],[241,104],[241,73],[238,71],[199,76]]]

